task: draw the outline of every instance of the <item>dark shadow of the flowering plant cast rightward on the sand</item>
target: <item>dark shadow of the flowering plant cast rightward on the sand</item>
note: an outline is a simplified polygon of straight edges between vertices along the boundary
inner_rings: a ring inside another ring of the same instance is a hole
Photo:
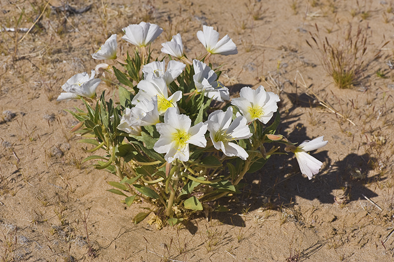
[[[278,127],[279,133],[291,141],[311,140],[302,124],[295,126],[290,133],[285,132],[290,124],[298,121],[299,116],[288,115]],[[287,156],[288,161],[284,161],[285,155],[272,155],[264,168],[245,175],[242,183],[247,186],[240,189],[241,194],[220,200],[220,205],[229,207],[234,215],[217,214],[218,218],[224,224],[240,227],[244,225],[244,219],[240,214],[261,207],[280,210],[282,206],[297,204],[297,197],[318,199],[321,204],[334,204],[338,192],[342,192],[341,195],[350,202],[363,198],[363,195],[378,196],[366,187],[372,181],[384,179],[379,174],[369,175],[373,169],[371,163],[376,161],[369,154],[349,153],[337,161],[328,156],[328,151],[312,151],[311,155],[324,163],[320,172],[311,180],[301,174],[297,159],[292,154]],[[361,177],[354,176],[356,171]]]

